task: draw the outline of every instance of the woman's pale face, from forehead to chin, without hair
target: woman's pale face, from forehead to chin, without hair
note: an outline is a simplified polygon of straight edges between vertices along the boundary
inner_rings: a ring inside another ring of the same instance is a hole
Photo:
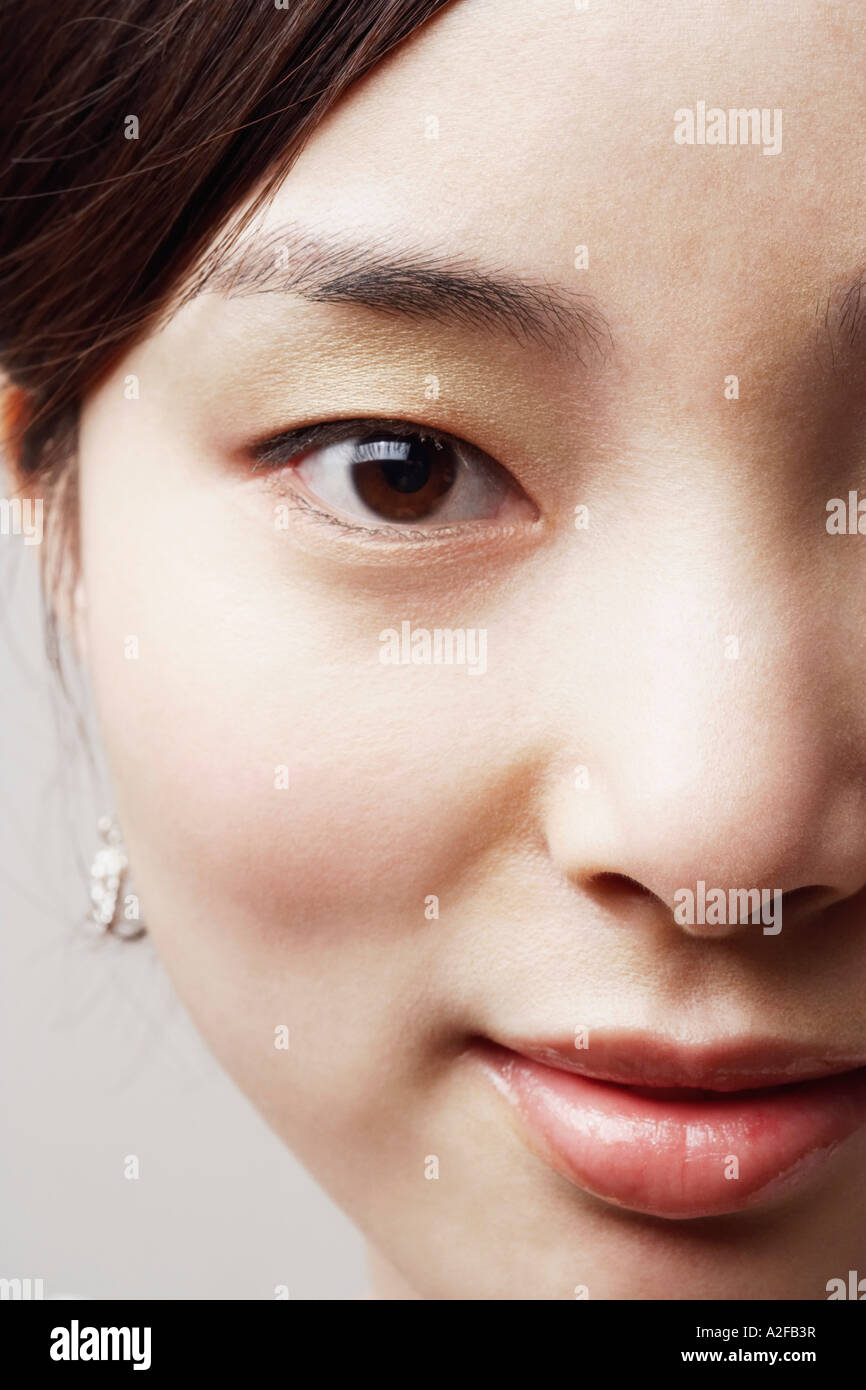
[[[866,1062],[863,58],[856,7],[456,4],[83,410],[143,913],[386,1293],[862,1254],[856,1081],[755,1088]]]

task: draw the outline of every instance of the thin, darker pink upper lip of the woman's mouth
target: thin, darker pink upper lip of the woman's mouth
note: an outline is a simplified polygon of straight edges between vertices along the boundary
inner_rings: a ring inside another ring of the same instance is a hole
[[[500,1047],[559,1072],[589,1080],[634,1087],[688,1087],[705,1091],[744,1091],[791,1086],[838,1076],[866,1066],[859,1054],[820,1044],[730,1038],[683,1042],[649,1033],[588,1030],[587,1047],[575,1038],[502,1041]]]

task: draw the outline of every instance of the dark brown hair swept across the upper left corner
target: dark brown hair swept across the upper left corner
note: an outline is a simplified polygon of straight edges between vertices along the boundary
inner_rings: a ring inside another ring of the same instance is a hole
[[[443,3],[0,0],[0,368],[18,473],[49,510],[61,484],[64,510],[74,496],[88,389]]]

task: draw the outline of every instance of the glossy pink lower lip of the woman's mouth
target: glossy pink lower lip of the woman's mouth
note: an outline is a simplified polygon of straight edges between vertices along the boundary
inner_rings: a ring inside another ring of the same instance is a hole
[[[666,1090],[656,1099],[492,1044],[477,1056],[556,1172],[652,1216],[720,1216],[788,1195],[866,1123],[866,1068],[694,1099]]]

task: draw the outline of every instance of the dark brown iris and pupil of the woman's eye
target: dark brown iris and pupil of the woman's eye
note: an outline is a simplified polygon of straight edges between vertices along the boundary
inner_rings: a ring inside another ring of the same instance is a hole
[[[377,435],[359,445],[356,459],[354,491],[388,521],[431,516],[457,475],[453,449],[421,435]]]

